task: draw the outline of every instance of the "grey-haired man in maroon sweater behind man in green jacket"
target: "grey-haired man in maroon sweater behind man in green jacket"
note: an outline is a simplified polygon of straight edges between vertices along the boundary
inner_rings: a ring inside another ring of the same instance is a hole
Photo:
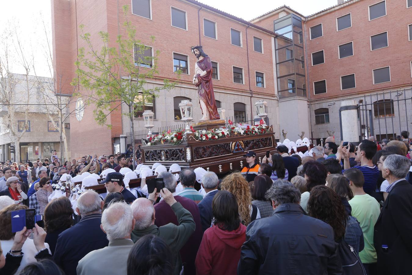
[[[197,250],[199,249],[200,242],[202,240],[202,227],[200,222],[199,208],[196,202],[185,197],[176,196],[176,178],[173,174],[169,172],[162,172],[159,178],[163,178],[164,186],[173,193],[173,196],[177,202],[182,204],[183,208],[188,210],[193,216],[194,223],[196,223],[196,230],[189,238],[187,243],[180,249],[180,257],[182,258],[182,263],[186,263],[185,275],[195,275],[196,268],[194,266],[194,261],[196,259]],[[179,225],[175,213],[171,207],[164,201],[161,200],[159,203],[155,204],[155,225],[164,226],[168,223],[173,223]]]

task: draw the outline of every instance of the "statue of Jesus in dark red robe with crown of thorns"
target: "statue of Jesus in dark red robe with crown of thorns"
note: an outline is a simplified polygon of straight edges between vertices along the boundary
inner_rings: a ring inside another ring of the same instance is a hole
[[[204,53],[202,46],[192,47],[192,52],[197,57],[194,65],[193,84],[197,87],[200,108],[203,117],[201,120],[218,120],[218,108],[216,108],[215,93],[212,84],[212,62]]]

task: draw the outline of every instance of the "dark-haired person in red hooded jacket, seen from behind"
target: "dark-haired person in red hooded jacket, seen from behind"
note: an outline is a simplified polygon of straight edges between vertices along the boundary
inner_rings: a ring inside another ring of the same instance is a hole
[[[246,226],[240,223],[236,197],[219,191],[212,201],[213,226],[204,235],[196,256],[196,274],[236,274]]]

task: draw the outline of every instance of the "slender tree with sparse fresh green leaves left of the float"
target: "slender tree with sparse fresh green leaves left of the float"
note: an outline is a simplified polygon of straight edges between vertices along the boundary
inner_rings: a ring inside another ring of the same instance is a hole
[[[128,17],[128,6],[123,7],[125,18]],[[78,61],[73,86],[80,85],[89,93],[86,104],[94,104],[94,118],[99,125],[112,125],[107,123],[107,118],[117,108],[127,106],[127,112],[122,114],[129,117],[131,125],[131,138],[133,153],[136,152],[133,118],[135,113],[143,110],[145,103],[150,103],[160,90],[169,90],[177,82],[163,80],[161,85],[147,85],[147,80],[155,78],[157,71],[157,50],[153,55],[145,54],[151,51],[136,37],[136,29],[129,21],[124,22],[126,35],[118,35],[116,43],[110,42],[109,34],[99,32],[101,38],[100,49],[96,49],[91,42],[91,34],[85,32],[85,26],[80,25],[80,38],[86,43],[87,48],[79,49]],[[151,36],[151,43],[155,37]],[[180,71],[177,79],[180,79]],[[80,93],[80,92],[79,92]],[[134,167],[134,161],[133,161]]]

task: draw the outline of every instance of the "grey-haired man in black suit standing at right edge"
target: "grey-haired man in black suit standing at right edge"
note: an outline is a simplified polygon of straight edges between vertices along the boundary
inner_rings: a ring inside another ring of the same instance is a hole
[[[401,155],[387,156],[382,165],[382,177],[389,186],[373,237],[379,274],[410,274],[412,185],[405,179],[410,166],[410,160]]]

